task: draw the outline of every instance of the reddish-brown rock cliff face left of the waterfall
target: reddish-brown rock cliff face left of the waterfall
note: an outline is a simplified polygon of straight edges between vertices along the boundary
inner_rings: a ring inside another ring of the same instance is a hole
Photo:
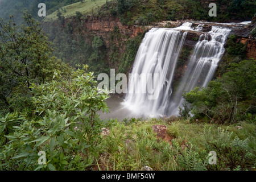
[[[59,39],[57,34],[68,34],[68,37],[72,40],[83,39],[81,42],[86,42],[92,46],[94,37],[100,37],[105,46],[105,65],[103,67],[115,68],[116,71],[120,62],[118,60],[121,60],[125,52],[127,40],[135,38],[135,36],[142,34],[147,29],[141,26],[123,25],[118,18],[111,16],[109,18],[83,16],[81,19],[77,19],[76,16],[72,18],[63,17],[53,22],[43,22],[42,25],[43,30],[50,34],[52,42]],[[61,42],[61,44],[63,43],[65,44],[64,41]],[[63,51],[60,47],[58,47],[57,52]],[[70,48],[73,47],[70,46]],[[79,47],[76,48],[79,49]],[[86,61],[84,63],[87,64]]]

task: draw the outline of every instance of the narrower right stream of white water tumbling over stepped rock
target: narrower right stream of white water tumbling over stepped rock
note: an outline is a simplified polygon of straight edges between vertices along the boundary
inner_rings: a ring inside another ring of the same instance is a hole
[[[168,114],[178,114],[179,106],[182,107],[182,94],[184,91],[189,92],[196,86],[199,86],[199,88],[205,87],[212,80],[218,61],[220,61],[225,52],[224,44],[230,31],[228,28],[213,26],[212,30],[208,32],[210,40],[207,40],[208,37],[205,35],[200,36],[185,74],[177,87],[174,97],[172,97],[170,107],[168,107]]]

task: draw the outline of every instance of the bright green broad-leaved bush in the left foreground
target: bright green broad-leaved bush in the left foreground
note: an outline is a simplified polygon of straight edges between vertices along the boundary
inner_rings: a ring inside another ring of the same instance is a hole
[[[93,73],[84,69],[54,77],[32,84],[34,117],[15,113],[1,118],[1,169],[77,170],[92,164],[101,128],[108,124],[96,112],[108,111],[109,92],[98,90]],[[46,152],[45,165],[38,164],[39,151]]]

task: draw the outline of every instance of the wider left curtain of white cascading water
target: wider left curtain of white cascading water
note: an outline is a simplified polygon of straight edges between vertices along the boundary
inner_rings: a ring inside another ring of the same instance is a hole
[[[152,74],[153,80],[154,76],[158,75],[159,88],[155,89],[158,89],[159,97],[156,100],[148,100],[151,94],[140,92],[148,88],[148,81],[139,85],[139,80],[133,81],[129,78],[129,94],[125,104],[134,114],[164,114],[172,94],[171,82],[176,62],[186,35],[187,32],[182,33],[171,28],[152,28],[145,35],[137,52],[132,74]],[[135,92],[131,93],[130,90]]]

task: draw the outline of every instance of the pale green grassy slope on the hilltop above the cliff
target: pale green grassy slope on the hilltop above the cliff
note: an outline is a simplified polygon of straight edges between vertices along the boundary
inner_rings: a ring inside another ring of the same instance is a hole
[[[111,1],[111,0],[109,0]],[[101,6],[106,3],[106,0],[85,0],[84,2],[77,2],[71,5],[64,6],[60,9],[60,13],[64,17],[70,17],[76,15],[76,11],[79,11],[81,14],[92,15],[92,12],[97,13],[100,10]],[[47,15],[44,18],[44,21],[51,21],[57,19],[57,11],[53,12],[50,15]]]

